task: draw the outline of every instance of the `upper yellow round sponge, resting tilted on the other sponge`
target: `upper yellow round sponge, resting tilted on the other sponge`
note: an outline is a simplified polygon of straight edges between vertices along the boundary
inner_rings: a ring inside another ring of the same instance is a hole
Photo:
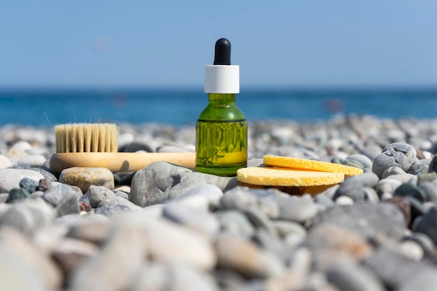
[[[364,172],[358,167],[313,161],[304,158],[290,158],[286,156],[264,156],[264,164],[272,167],[288,167],[299,170],[343,173],[349,176],[362,174]]]

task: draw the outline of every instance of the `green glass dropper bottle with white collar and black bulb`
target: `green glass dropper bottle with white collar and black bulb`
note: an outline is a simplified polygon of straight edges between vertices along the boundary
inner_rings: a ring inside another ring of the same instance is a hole
[[[230,42],[216,41],[214,65],[205,67],[208,104],[195,127],[195,167],[198,172],[232,177],[247,165],[247,122],[235,104],[239,66],[230,64]]]

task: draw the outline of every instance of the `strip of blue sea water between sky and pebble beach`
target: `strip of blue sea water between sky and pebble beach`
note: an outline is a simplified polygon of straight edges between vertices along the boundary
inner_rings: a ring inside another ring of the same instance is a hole
[[[77,122],[194,125],[205,107],[193,89],[0,89],[0,126]],[[326,120],[334,114],[437,118],[435,89],[244,89],[237,94],[248,121]]]

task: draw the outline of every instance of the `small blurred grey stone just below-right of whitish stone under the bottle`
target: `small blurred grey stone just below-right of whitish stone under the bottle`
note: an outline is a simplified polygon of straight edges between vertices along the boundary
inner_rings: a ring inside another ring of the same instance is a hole
[[[239,235],[250,238],[255,233],[255,227],[241,211],[222,210],[216,211],[218,221],[220,221],[221,232]]]

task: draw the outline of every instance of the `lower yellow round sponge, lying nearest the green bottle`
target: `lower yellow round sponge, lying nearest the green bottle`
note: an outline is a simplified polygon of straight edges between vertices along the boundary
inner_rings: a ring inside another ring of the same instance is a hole
[[[237,170],[237,180],[265,186],[320,186],[341,183],[344,174],[279,167],[244,167]]]

